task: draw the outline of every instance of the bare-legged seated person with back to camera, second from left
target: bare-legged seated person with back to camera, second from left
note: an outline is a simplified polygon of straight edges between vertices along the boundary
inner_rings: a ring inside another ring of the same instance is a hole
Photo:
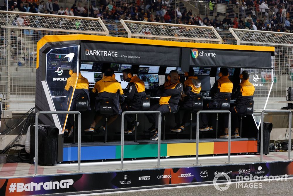
[[[108,98],[113,100],[113,110],[114,115],[108,119],[108,125],[113,123],[118,114],[121,114],[121,106],[120,104],[124,102],[124,94],[121,87],[121,84],[115,79],[115,74],[113,69],[106,69],[104,73],[104,77],[95,83],[95,86],[92,90],[93,93],[97,93],[96,96],[96,115],[94,117],[94,121],[91,126],[84,130],[85,132],[94,132],[96,124],[103,119],[103,115],[100,114],[100,101]],[[105,131],[105,125],[99,128],[99,131]]]

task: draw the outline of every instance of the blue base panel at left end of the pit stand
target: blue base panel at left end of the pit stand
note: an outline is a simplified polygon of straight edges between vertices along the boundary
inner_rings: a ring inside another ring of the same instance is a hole
[[[81,146],[81,160],[115,159],[116,146]],[[77,160],[77,146],[63,148],[63,161]]]

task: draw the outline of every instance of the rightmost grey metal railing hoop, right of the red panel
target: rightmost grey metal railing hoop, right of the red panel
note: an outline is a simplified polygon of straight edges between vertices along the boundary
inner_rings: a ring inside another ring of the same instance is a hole
[[[289,113],[289,139],[288,139],[288,159],[290,160],[291,153],[291,128],[292,128],[292,113],[290,110],[263,110],[261,112],[261,133],[260,133],[260,161],[263,161],[263,117],[264,113]]]

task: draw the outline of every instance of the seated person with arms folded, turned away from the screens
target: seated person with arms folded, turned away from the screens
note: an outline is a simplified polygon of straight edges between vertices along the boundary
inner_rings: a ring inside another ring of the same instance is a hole
[[[168,75],[168,81],[159,87],[157,96],[160,96],[159,103],[151,106],[149,110],[157,110],[161,114],[175,112],[178,109],[178,102],[182,94],[183,85],[179,81],[179,75],[176,70],[171,70]],[[148,129],[155,135],[151,140],[158,140],[158,131],[156,128],[156,114],[146,114],[148,120],[153,125]]]

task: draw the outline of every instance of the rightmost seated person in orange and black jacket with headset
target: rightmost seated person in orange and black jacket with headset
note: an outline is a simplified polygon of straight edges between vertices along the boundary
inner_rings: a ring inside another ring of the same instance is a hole
[[[231,137],[239,138],[239,119],[236,113],[243,114],[245,113],[245,106],[248,101],[253,100],[253,94],[255,88],[252,83],[248,81],[249,73],[248,71],[243,71],[239,78],[241,83],[234,89],[231,94],[231,100],[235,99],[236,106],[230,108],[232,114],[232,127],[235,128],[235,132]],[[234,115],[233,115],[234,114]]]

